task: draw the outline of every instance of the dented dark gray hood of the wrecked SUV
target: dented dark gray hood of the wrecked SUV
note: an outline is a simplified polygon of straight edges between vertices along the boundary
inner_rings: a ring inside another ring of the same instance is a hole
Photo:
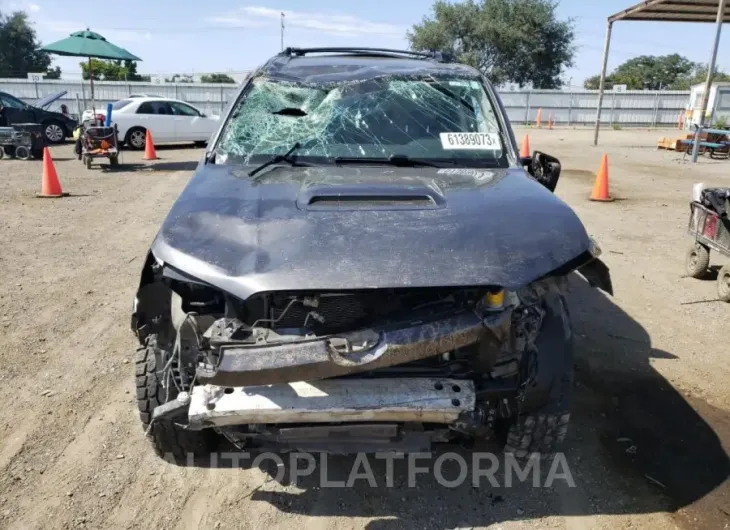
[[[589,250],[565,203],[512,169],[201,164],[155,257],[241,299],[263,291],[500,285]]]

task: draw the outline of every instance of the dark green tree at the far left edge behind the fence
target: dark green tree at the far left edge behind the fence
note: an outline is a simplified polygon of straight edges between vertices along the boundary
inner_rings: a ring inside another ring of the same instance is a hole
[[[51,66],[51,56],[40,51],[36,32],[28,21],[28,15],[16,11],[10,15],[0,12],[0,77],[26,77],[29,72],[46,72]],[[60,77],[56,67],[51,75]]]

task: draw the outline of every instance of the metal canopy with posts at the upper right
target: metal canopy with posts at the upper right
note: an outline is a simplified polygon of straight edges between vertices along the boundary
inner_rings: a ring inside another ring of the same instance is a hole
[[[608,17],[606,43],[603,49],[603,68],[601,69],[601,84],[598,93],[598,109],[596,110],[596,133],[593,145],[598,145],[598,132],[601,128],[601,107],[606,87],[606,68],[608,66],[608,52],[611,47],[611,31],[613,23],[619,21],[653,21],[653,22],[714,22],[717,25],[715,41],[712,47],[710,68],[707,72],[707,83],[702,96],[702,107],[699,127],[704,125],[707,103],[712,87],[712,77],[717,62],[717,48],[720,44],[722,25],[730,22],[730,10],[727,9],[727,0],[645,0],[635,6]],[[699,142],[695,141],[692,159],[697,161]]]

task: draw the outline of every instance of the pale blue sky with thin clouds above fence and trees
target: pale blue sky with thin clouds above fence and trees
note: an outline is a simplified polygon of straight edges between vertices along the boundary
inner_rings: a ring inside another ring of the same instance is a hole
[[[561,18],[576,23],[578,53],[566,82],[581,85],[598,73],[606,17],[636,0],[562,0]],[[91,28],[143,62],[140,73],[241,72],[280,50],[280,13],[285,13],[286,46],[407,46],[406,30],[430,12],[427,0],[0,0],[0,10],[25,10],[43,43]],[[110,9],[110,7],[115,7]],[[725,59],[727,33],[719,64]],[[610,67],[635,55],[681,53],[708,62],[712,27],[707,24],[620,22],[615,25]],[[724,61],[724,62],[723,62]],[[75,58],[55,58],[64,77],[78,78]]]

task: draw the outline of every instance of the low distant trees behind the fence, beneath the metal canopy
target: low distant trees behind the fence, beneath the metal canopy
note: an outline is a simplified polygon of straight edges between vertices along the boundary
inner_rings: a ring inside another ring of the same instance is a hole
[[[629,59],[606,76],[606,88],[626,85],[629,90],[689,90],[692,85],[707,78],[707,65],[695,63],[679,54],[653,56],[641,55]],[[730,80],[724,72],[715,73],[716,81]],[[586,79],[588,89],[599,88],[601,76]]]

